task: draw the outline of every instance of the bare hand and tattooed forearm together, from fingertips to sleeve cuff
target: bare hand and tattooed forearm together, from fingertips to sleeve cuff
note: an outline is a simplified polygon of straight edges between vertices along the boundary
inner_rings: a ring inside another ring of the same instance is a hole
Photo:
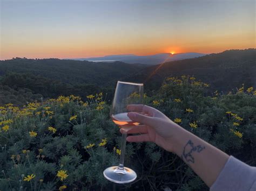
[[[181,128],[157,109],[147,105],[128,105],[127,109],[133,111],[128,113],[130,119],[142,124],[127,131],[141,133],[127,137],[128,142],[154,142],[165,150],[176,153],[208,187],[213,185],[229,158],[226,153]],[[190,144],[186,148],[188,143]],[[191,144],[201,150],[192,150]]]

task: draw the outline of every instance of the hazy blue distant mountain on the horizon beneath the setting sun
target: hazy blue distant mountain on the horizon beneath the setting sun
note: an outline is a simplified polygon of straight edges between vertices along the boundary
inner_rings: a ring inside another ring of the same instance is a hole
[[[72,60],[87,60],[94,62],[113,62],[113,61],[122,61],[125,63],[143,63],[147,65],[157,65],[158,63],[169,62],[174,60],[184,60],[190,58],[197,58],[199,56],[204,56],[206,54],[202,53],[179,53],[179,54],[170,54],[170,53],[161,53],[154,55],[138,56],[134,54],[123,54],[123,55],[107,55],[103,57],[96,58],[80,58]]]

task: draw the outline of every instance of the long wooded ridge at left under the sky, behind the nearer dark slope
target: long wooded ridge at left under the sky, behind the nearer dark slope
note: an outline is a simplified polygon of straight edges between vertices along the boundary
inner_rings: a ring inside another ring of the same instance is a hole
[[[145,65],[123,62],[89,62],[60,59],[21,59],[0,61],[0,76],[8,72],[31,73],[64,83],[92,83],[105,86],[111,81],[137,72]]]

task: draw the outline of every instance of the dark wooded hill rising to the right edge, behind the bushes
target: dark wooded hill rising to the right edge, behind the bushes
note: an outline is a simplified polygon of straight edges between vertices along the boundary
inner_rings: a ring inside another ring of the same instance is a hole
[[[256,87],[256,49],[230,50],[199,58],[165,62],[149,66],[124,77],[124,81],[144,83],[146,89],[158,89],[169,76],[191,75],[211,84],[212,90]]]

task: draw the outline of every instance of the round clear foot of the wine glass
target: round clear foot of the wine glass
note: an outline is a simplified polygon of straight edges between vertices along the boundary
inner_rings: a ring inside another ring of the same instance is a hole
[[[111,166],[103,174],[107,180],[115,183],[129,183],[137,178],[136,172],[127,167],[119,169],[118,166]]]

